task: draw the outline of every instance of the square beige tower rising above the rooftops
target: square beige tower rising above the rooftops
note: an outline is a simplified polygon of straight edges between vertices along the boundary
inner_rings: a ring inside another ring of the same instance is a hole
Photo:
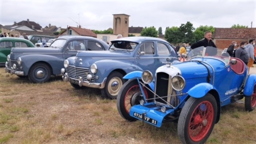
[[[127,14],[113,14],[113,34],[122,37],[128,37],[129,29],[129,15]]]

